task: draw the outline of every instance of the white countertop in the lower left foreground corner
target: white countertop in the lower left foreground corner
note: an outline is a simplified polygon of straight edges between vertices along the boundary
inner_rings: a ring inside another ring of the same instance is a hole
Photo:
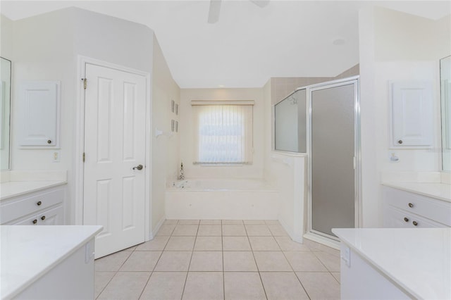
[[[89,242],[101,226],[0,226],[0,298],[13,298]]]

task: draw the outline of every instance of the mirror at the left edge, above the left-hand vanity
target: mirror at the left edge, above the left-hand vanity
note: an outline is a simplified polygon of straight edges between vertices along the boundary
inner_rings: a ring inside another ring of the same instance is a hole
[[[0,170],[9,170],[9,120],[11,115],[11,61],[0,58]]]

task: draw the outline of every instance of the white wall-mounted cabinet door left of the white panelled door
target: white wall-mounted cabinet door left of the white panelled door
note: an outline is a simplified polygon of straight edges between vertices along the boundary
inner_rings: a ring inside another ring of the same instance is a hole
[[[20,146],[58,146],[59,90],[58,81],[20,84]]]

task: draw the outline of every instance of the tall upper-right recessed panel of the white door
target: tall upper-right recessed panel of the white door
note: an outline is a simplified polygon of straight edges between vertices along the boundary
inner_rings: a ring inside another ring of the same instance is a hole
[[[123,160],[130,161],[135,159],[135,103],[136,103],[136,85],[130,82],[124,82],[124,109],[123,109]]]

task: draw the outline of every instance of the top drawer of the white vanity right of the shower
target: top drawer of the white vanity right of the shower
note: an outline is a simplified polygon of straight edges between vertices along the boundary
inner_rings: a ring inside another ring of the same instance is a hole
[[[451,226],[450,203],[390,187],[383,191],[385,204]]]

